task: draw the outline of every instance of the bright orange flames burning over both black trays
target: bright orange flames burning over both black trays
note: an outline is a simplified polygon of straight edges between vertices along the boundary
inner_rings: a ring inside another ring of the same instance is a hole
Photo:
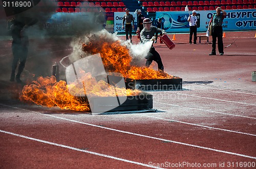
[[[165,79],[177,78],[162,71],[156,71],[153,67],[132,66],[133,58],[130,55],[129,48],[122,45],[120,41],[105,39],[104,36],[91,36],[89,43],[81,43],[84,53],[100,53],[104,68],[108,72],[121,73],[125,78],[131,79]],[[70,109],[76,111],[89,111],[89,102],[79,100],[79,95],[90,94],[97,97],[116,97],[139,95],[139,90],[130,90],[116,88],[104,80],[97,81],[90,74],[84,73],[83,78],[67,85],[66,81],[56,81],[54,76],[39,77],[31,85],[26,85],[23,89],[22,100],[32,101],[38,105],[53,107],[58,106],[61,109]],[[91,80],[88,81],[88,78]],[[84,82],[90,88],[85,90]],[[69,89],[72,88],[70,91]],[[113,88],[116,93],[113,94]],[[89,98],[90,99],[90,98]]]

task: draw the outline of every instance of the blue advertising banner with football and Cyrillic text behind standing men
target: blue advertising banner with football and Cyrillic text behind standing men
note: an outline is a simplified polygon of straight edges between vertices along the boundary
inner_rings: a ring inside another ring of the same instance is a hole
[[[256,9],[225,10],[223,31],[256,30]],[[216,11],[197,11],[198,32],[206,32],[209,21]],[[156,19],[162,18],[164,30],[168,33],[189,32],[187,18],[191,11],[156,12]]]

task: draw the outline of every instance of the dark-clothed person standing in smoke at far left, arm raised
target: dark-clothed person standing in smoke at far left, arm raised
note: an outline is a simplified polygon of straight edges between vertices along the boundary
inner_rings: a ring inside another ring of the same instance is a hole
[[[20,75],[23,72],[25,67],[25,63],[27,60],[28,55],[28,46],[29,40],[28,36],[26,35],[26,28],[32,24],[35,24],[37,19],[31,19],[26,17],[19,17],[16,16],[7,21],[7,29],[11,33],[12,36],[12,53],[13,53],[13,61],[12,61],[12,72],[10,81],[22,82],[20,80]],[[28,23],[28,24],[26,24]],[[18,72],[15,77],[15,71],[18,65]]]

